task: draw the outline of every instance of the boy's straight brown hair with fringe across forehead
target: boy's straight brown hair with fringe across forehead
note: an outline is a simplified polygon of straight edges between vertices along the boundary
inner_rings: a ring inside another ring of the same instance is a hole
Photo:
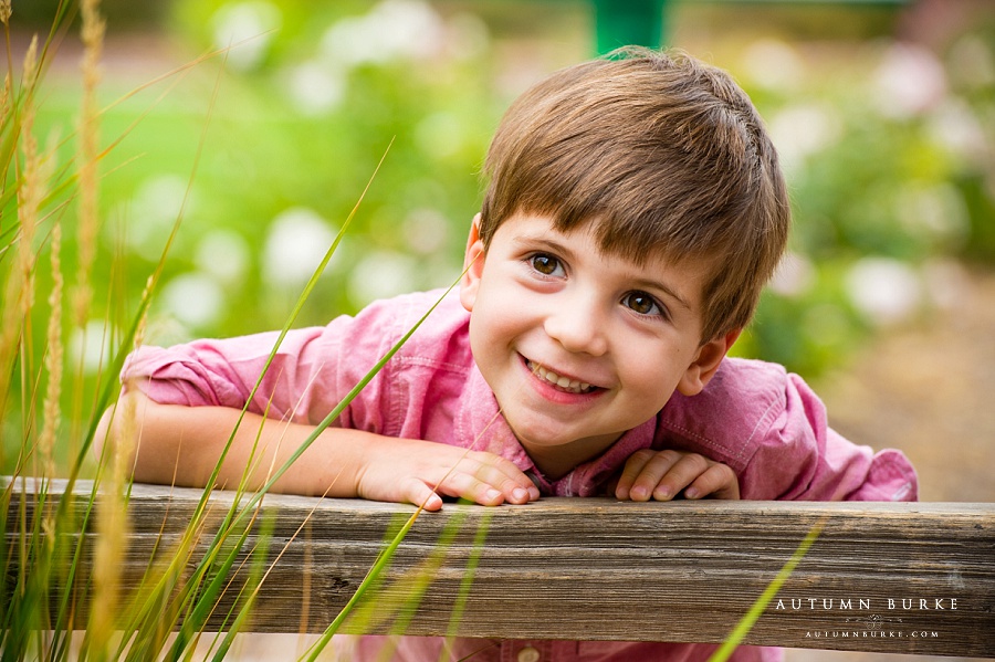
[[[682,53],[626,49],[540,82],[491,143],[480,233],[536,213],[595,221],[601,250],[704,259],[702,341],[745,326],[784,252],[784,178],[750,97]]]

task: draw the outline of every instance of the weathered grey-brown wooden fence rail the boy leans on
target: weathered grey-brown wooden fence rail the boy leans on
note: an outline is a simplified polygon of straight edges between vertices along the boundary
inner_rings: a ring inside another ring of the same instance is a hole
[[[21,503],[31,511],[31,490],[14,488],[8,545],[19,535]],[[63,495],[64,485],[51,490]],[[70,496],[82,507],[91,490],[81,483]],[[200,496],[134,486],[126,578],[140,577],[154,555],[170,549]],[[232,500],[232,493],[214,492],[212,517],[220,521]],[[256,522],[272,526],[269,556],[279,560],[249,629],[323,631],[390,532],[413,512],[268,495]],[[409,634],[446,634],[459,605],[455,632],[464,637],[720,642],[814,527],[821,533],[746,643],[995,656],[995,504],[447,504],[418,517],[386,571],[385,590],[373,598],[374,612],[395,619],[363,628],[388,632],[402,618]],[[253,533],[244,554],[256,543]],[[417,606],[404,605],[419,590],[412,577],[430,581]],[[76,608],[86,611],[85,603]]]

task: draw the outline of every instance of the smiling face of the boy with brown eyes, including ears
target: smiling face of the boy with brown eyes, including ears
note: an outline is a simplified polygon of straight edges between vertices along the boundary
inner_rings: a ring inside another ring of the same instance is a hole
[[[502,413],[544,472],[563,474],[698,393],[736,333],[701,344],[706,266],[601,253],[584,225],[506,219],[484,252],[474,221],[460,298]]]

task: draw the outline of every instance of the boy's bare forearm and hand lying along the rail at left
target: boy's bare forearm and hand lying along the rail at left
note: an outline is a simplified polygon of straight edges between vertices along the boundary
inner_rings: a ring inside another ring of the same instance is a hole
[[[109,435],[137,438],[134,479],[139,482],[205,486],[218,464],[240,411],[228,407],[159,404],[139,389],[125,389],[117,414],[108,410],[97,431],[97,451]],[[135,421],[123,412],[134,411]],[[262,487],[272,473],[313,432],[307,424],[247,413],[218,475],[232,488],[243,475],[247,486]],[[247,470],[247,467],[251,467]],[[439,494],[482,505],[523,504],[538,498],[532,481],[510,461],[485,452],[362,430],[327,428],[276,481],[273,491],[374,501],[409,502],[436,511]]]

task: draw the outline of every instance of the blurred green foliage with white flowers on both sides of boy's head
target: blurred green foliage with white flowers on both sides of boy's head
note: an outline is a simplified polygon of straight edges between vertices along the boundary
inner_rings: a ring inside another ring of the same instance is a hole
[[[121,283],[113,305],[137,295],[187,196],[148,340],[280,326],[388,145],[301,324],[375,296],[447,286],[479,208],[491,133],[521,81],[548,64],[530,64],[527,44],[480,18],[494,6],[177,0],[157,10],[166,19],[144,71],[232,50],[103,116],[106,143],[127,134],[103,167],[100,277]],[[563,10],[545,11],[553,33]],[[882,33],[897,21],[880,12],[862,41],[743,40],[739,21],[740,43],[713,48],[713,35],[701,53],[681,44],[730,69],[754,97],[795,207],[790,269],[739,354],[817,374],[876,327],[942,304],[938,288],[955,280],[951,260],[995,260],[995,20],[980,13],[931,50]],[[523,31],[542,33],[534,21]],[[127,71],[123,52],[142,56],[140,40],[116,36],[130,39],[132,51],[108,48],[118,59],[108,72]],[[576,43],[586,38],[569,42],[575,51],[557,65],[587,55]],[[525,70],[517,78],[515,67]],[[48,126],[76,113],[73,75],[57,80],[40,109]],[[107,102],[142,83],[108,75]]]

